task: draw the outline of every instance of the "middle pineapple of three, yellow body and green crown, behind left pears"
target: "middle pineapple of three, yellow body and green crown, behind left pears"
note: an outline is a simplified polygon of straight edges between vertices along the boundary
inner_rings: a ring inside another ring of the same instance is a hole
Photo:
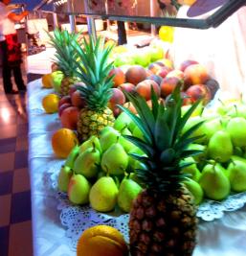
[[[109,72],[113,63],[108,62],[112,47],[104,48],[104,40],[89,36],[89,42],[83,38],[83,49],[78,42],[73,42],[77,52],[77,76],[85,86],[79,86],[81,97],[86,103],[78,118],[78,138],[87,140],[91,135],[100,135],[102,128],[113,126],[114,115],[107,107],[112,96],[113,77]]]

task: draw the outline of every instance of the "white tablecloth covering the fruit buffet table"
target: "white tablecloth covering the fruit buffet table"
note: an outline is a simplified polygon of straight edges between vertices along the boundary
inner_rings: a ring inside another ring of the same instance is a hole
[[[51,89],[41,89],[40,80],[28,84],[34,256],[75,256],[66,230],[59,221],[56,198],[44,182],[47,169],[56,163],[50,139],[53,132],[60,128],[57,114],[48,115],[41,110],[41,99],[50,92]],[[198,244],[193,256],[245,256],[245,241],[246,207],[225,213],[220,220],[200,221]]]

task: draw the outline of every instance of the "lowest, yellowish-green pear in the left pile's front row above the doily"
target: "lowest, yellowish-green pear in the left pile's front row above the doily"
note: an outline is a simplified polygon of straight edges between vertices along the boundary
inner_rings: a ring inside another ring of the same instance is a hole
[[[109,212],[115,208],[118,188],[110,176],[102,176],[92,186],[89,199],[91,207],[99,212]]]

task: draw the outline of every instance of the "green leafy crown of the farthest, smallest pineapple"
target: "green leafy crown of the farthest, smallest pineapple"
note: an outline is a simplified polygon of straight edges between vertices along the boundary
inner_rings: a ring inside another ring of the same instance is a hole
[[[60,31],[56,28],[54,31],[54,35],[50,35],[51,45],[56,49],[56,54],[54,59],[59,67],[59,69],[63,72],[65,77],[73,78],[75,77],[75,69],[77,66],[75,65],[74,58],[75,50],[71,45],[72,41],[78,40],[78,35],[76,33],[69,34],[68,31]]]

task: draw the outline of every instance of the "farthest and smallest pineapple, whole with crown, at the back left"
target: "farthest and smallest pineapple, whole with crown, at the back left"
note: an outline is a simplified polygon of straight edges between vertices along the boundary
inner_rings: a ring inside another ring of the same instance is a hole
[[[73,40],[78,40],[78,34],[69,34],[66,30],[60,31],[56,29],[54,36],[49,36],[51,38],[51,44],[56,49],[56,64],[58,69],[64,74],[64,78],[60,83],[60,94],[65,96],[69,93],[69,87],[78,81],[75,76],[75,70],[77,68],[74,61],[75,50],[71,45]]]

